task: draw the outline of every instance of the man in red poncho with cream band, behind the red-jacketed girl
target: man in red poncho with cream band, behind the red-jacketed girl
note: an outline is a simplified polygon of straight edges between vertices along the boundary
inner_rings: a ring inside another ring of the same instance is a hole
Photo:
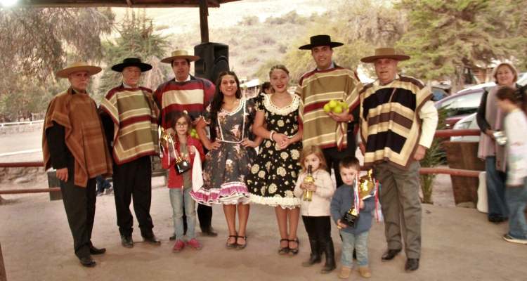
[[[193,124],[203,114],[207,105],[212,101],[216,87],[214,83],[207,79],[190,75],[190,63],[199,60],[197,55],[190,55],[187,51],[176,50],[167,58],[161,60],[162,63],[169,63],[174,71],[175,77],[164,82],[157,87],[154,98],[157,106],[161,110],[161,126],[164,129],[174,128],[174,114],[186,111],[192,119]],[[183,214],[183,221],[186,225],[185,216],[193,214]],[[203,235],[216,236],[211,226],[212,207],[203,204],[197,205],[197,218],[200,221],[200,228]],[[170,237],[175,240],[176,234]]]

